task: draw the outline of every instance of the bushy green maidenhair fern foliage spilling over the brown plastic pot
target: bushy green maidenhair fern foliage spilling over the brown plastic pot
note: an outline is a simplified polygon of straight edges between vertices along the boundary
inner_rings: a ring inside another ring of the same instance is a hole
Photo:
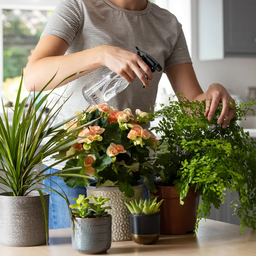
[[[236,191],[237,198],[231,207],[237,210],[244,226],[256,228],[256,143],[237,124],[254,111],[255,102],[237,102],[236,116],[226,129],[217,124],[222,105],[218,105],[215,117],[205,117],[205,101],[189,102],[185,98],[170,99],[169,106],[161,104],[162,110],[152,119],[163,117],[153,129],[161,135],[160,153],[155,165],[160,166],[156,176],[161,185],[176,186],[180,203],[186,197],[190,186],[201,193],[203,203],[199,205],[198,222],[210,215],[211,207],[219,208],[226,200],[226,190]],[[231,108],[234,106],[231,106]]]

